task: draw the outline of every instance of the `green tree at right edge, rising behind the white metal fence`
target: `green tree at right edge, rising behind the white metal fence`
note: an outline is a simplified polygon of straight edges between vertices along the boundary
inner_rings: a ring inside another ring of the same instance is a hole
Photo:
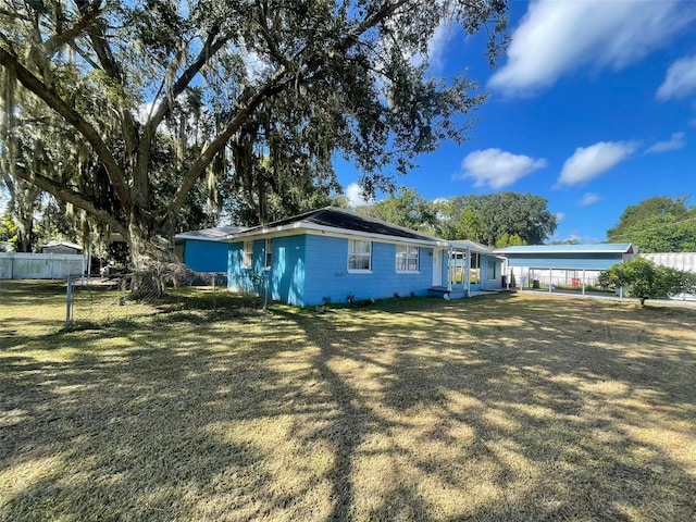
[[[658,196],[627,207],[619,223],[607,231],[610,243],[633,243],[643,252],[696,250],[696,207],[687,196]]]

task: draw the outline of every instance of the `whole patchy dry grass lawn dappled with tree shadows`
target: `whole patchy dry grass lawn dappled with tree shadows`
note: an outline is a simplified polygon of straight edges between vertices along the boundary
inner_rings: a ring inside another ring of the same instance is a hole
[[[63,293],[0,282],[0,520],[696,519],[694,309]]]

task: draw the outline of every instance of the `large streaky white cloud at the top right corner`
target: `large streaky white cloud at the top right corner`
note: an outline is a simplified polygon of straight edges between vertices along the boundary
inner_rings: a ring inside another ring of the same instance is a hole
[[[620,70],[667,47],[694,20],[696,4],[687,1],[537,0],[489,85],[524,95],[581,67]]]

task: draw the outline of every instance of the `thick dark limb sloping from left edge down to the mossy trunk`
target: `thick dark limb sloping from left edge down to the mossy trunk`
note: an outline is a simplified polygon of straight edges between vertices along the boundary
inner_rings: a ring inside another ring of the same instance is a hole
[[[55,91],[46,86],[29,70],[27,70],[17,58],[0,48],[0,65],[3,67],[12,66],[16,71],[17,80],[28,91],[44,100],[46,104],[53,111],[59,113],[65,121],[72,125],[95,149],[99,160],[104,164],[109,181],[113,186],[116,197],[121,201],[124,209],[130,210],[130,196],[125,185],[124,175],[121,166],[116,163],[111,151],[104,144],[97,129],[87,122],[72,105],[63,100]]]

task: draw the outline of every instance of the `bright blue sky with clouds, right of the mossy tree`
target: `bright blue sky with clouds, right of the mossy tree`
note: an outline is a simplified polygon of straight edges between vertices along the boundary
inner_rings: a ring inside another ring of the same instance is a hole
[[[652,196],[696,204],[696,1],[512,1],[495,70],[482,37],[443,28],[431,71],[489,92],[471,140],[419,158],[399,185],[427,199],[532,192],[557,214],[552,239],[598,243]],[[337,163],[359,202],[358,173]]]

